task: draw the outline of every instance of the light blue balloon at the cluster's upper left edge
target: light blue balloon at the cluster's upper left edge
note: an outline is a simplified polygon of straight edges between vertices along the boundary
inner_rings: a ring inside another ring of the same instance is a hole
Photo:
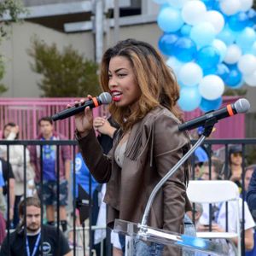
[[[160,10],[157,23],[164,32],[176,32],[183,26],[183,19],[178,9],[166,7]]]

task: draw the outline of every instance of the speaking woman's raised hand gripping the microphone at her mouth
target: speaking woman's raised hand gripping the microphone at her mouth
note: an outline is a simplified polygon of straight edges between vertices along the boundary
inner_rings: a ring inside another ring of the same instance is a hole
[[[92,96],[88,95],[88,98],[91,99]],[[84,104],[84,100],[80,102],[75,102],[75,106],[79,107],[80,105]],[[70,105],[67,105],[67,108],[71,108]],[[93,114],[90,107],[86,107],[84,112],[77,113],[74,116],[75,125],[81,137],[86,136],[93,127]]]

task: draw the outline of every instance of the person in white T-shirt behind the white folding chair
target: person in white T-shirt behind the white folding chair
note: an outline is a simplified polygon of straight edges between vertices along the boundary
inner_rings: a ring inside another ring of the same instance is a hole
[[[218,180],[221,178],[221,170],[222,170],[223,163],[216,159],[212,158],[212,180]],[[210,166],[209,162],[206,162],[203,166],[204,171],[202,175],[202,179],[209,180],[209,172]],[[240,211],[242,208],[242,201],[240,199]],[[245,248],[246,250],[252,250],[254,246],[253,240],[253,228],[255,226],[253,217],[247,207],[247,202],[244,202],[244,231],[245,231]],[[209,214],[209,204],[202,204],[203,206],[203,213],[199,220],[199,225],[197,226],[198,231],[209,231],[209,223],[210,223],[210,214]],[[228,202],[228,230],[229,232],[236,233],[236,201],[229,201]],[[242,212],[240,212],[240,218],[242,216]],[[219,204],[212,204],[212,232],[225,232],[226,229],[226,207],[225,203],[221,202]],[[237,245],[237,238],[233,238],[232,241]],[[235,255],[233,248],[230,246],[229,255]]]

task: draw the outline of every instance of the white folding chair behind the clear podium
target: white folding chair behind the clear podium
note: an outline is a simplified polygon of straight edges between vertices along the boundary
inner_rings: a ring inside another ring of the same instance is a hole
[[[233,232],[197,232],[196,236],[207,239],[227,239],[231,242],[236,255],[241,255],[241,226],[239,216],[239,190],[236,183],[228,180],[189,181],[187,194],[191,202],[220,203],[236,201],[236,233]],[[231,238],[237,237],[237,247]]]

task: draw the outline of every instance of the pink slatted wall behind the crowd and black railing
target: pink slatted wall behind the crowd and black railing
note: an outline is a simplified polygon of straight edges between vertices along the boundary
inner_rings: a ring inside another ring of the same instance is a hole
[[[8,122],[15,122],[20,126],[20,139],[34,139],[38,134],[38,119],[51,116],[66,108],[68,103],[73,104],[75,98],[1,98],[0,100],[0,130]],[[237,97],[224,97],[223,106],[236,102]],[[106,114],[106,108],[94,108],[94,114]],[[199,109],[185,113],[185,119],[193,119],[203,114]],[[234,117],[222,119],[215,126],[217,130],[213,138],[244,138],[245,116],[237,114]],[[55,122],[55,130],[73,139],[73,118]],[[0,131],[1,133],[1,131]],[[1,135],[0,135],[1,136]]]

